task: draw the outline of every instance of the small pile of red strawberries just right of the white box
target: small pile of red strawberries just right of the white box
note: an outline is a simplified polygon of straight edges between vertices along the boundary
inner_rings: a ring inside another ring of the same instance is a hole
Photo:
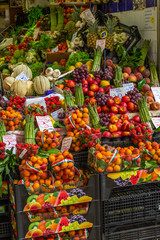
[[[59,108],[61,108],[61,101],[58,96],[45,98],[46,105],[47,105],[47,113],[50,114]]]

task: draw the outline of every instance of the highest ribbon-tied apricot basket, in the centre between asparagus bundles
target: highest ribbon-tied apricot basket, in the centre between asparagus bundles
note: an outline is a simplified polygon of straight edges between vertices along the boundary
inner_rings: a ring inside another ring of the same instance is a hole
[[[68,131],[85,128],[86,125],[89,124],[88,108],[85,107],[82,111],[76,109],[75,111],[71,112],[66,116],[64,123],[66,124]]]

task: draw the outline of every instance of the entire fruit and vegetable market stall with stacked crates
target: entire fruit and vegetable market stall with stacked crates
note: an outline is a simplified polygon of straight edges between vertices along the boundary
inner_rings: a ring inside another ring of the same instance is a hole
[[[152,41],[93,3],[25,17],[0,43],[0,194],[7,180],[12,237],[115,240],[130,229],[131,239],[159,226]]]

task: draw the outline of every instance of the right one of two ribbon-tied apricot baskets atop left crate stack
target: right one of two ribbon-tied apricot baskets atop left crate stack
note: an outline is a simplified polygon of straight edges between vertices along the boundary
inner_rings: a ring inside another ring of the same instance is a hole
[[[51,154],[49,162],[52,164],[52,171],[55,176],[55,187],[61,186],[64,182],[74,179],[75,168],[73,156],[68,151]]]

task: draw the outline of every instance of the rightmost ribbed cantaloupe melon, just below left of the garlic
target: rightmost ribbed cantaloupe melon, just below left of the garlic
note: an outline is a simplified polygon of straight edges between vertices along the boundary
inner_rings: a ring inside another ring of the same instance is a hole
[[[45,91],[50,89],[50,82],[44,76],[37,76],[33,79],[34,82],[34,90],[37,94],[43,95]]]

